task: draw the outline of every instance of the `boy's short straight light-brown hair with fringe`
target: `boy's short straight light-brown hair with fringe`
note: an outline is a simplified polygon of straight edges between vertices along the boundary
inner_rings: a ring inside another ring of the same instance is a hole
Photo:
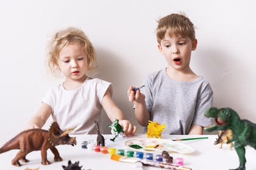
[[[157,42],[165,38],[165,33],[169,36],[185,36],[191,40],[195,39],[194,24],[183,13],[173,13],[159,19],[157,25]]]

